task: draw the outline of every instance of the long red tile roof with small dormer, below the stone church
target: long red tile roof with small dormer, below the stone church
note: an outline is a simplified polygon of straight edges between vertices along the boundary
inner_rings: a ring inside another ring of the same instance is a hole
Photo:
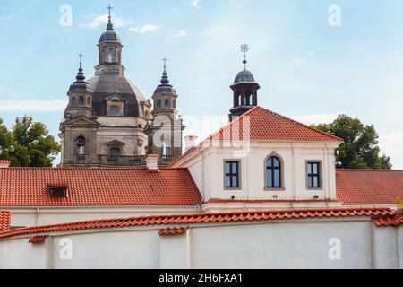
[[[68,187],[51,197],[48,186]],[[0,169],[0,206],[197,205],[201,194],[185,169]]]

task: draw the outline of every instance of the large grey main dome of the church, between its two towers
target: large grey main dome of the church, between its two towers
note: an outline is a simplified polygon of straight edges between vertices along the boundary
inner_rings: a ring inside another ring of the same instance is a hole
[[[125,99],[124,117],[141,117],[141,102],[147,101],[144,94],[123,74],[105,73],[88,80],[94,91],[92,106],[97,116],[107,116],[107,97],[119,95]]]

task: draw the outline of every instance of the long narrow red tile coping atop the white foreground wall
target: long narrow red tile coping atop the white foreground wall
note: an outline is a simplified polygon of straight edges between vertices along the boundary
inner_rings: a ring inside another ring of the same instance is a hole
[[[0,239],[28,234],[43,234],[72,230],[97,230],[108,228],[139,227],[154,225],[186,225],[215,222],[256,222],[287,219],[354,217],[354,216],[387,216],[394,215],[395,211],[388,207],[350,207],[350,208],[315,208],[315,209],[288,209],[261,212],[237,213],[198,213],[184,215],[144,216],[124,219],[93,220],[72,222],[56,225],[21,228],[0,233]]]

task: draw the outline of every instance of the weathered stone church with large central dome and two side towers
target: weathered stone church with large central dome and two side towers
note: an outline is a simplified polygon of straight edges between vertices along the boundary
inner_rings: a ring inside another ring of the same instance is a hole
[[[86,80],[82,65],[60,124],[62,166],[143,166],[158,154],[167,166],[182,155],[184,125],[167,70],[153,103],[124,76],[123,44],[111,18],[99,39],[99,65]]]

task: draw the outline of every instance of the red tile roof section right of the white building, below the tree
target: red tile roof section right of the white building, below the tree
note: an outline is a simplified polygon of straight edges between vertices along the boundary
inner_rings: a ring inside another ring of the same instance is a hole
[[[403,199],[403,170],[337,170],[338,200],[344,204],[395,204]]]

